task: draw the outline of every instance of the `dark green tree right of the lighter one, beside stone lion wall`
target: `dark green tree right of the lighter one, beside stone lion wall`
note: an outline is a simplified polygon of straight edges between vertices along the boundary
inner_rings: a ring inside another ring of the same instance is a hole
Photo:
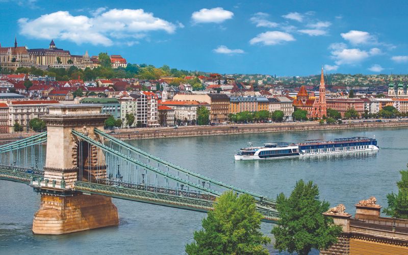
[[[288,198],[279,194],[276,209],[281,218],[272,229],[274,247],[303,255],[312,248],[324,249],[336,243],[341,227],[322,214],[328,208],[328,202],[319,200],[319,189],[312,181],[298,181]]]

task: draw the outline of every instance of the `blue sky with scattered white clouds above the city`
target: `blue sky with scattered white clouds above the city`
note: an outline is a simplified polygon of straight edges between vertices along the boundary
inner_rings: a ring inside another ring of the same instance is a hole
[[[277,76],[408,73],[408,1],[0,0],[0,43]]]

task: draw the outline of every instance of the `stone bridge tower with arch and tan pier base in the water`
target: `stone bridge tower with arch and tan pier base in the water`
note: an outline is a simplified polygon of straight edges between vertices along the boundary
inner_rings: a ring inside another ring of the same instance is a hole
[[[74,191],[75,181],[103,181],[106,164],[103,151],[80,142],[71,131],[79,131],[102,142],[94,127],[103,129],[107,114],[97,105],[50,107],[43,119],[47,125],[44,179],[33,182],[41,194],[34,214],[34,234],[66,234],[119,224],[117,208],[110,197]]]

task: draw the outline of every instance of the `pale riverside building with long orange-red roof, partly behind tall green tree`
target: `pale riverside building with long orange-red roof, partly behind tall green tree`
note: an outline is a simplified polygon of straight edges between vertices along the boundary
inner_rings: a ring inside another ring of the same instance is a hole
[[[206,107],[210,110],[210,105],[207,103],[199,103],[198,101],[172,101],[166,100],[160,103],[162,106],[170,107],[174,110],[175,119],[181,121],[194,123],[197,120],[197,108]]]

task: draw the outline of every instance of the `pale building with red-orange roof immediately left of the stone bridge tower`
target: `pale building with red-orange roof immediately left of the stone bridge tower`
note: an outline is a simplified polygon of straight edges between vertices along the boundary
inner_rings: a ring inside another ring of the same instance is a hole
[[[30,131],[30,120],[48,114],[50,106],[60,105],[57,100],[21,100],[9,101],[9,133],[13,133],[14,123],[23,126],[23,131]]]

